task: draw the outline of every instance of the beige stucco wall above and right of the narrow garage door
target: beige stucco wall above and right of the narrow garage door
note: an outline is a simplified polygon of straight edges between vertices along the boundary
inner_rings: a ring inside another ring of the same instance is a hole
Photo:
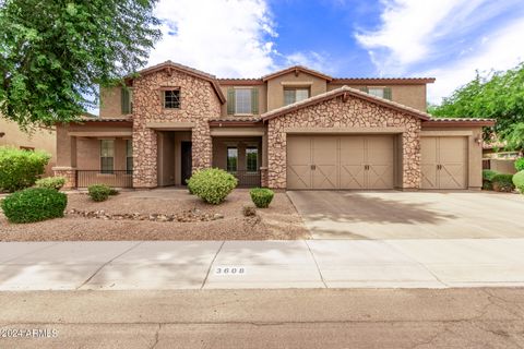
[[[428,133],[431,132],[431,133]],[[469,189],[483,188],[483,146],[475,142],[475,140],[483,139],[483,128],[427,128],[422,123],[424,134],[432,136],[454,136],[468,134],[467,136],[467,186]]]

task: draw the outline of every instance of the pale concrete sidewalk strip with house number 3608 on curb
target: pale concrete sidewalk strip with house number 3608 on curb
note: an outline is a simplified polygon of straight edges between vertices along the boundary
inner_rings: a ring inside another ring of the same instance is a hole
[[[524,239],[0,243],[0,290],[524,286]]]

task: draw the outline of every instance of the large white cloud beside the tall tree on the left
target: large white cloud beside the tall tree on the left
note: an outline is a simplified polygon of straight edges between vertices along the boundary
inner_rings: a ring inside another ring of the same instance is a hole
[[[274,69],[276,36],[264,0],[160,0],[162,40],[148,65],[166,60],[217,76],[260,76]]]

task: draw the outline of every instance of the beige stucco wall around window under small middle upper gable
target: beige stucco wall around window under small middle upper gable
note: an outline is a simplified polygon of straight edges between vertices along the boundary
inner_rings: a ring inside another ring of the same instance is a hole
[[[291,85],[286,86],[285,83],[291,83]],[[271,79],[267,81],[267,110],[284,106],[285,87],[310,87],[310,95],[317,96],[326,92],[326,81],[305,72],[299,72],[298,76],[291,72]]]

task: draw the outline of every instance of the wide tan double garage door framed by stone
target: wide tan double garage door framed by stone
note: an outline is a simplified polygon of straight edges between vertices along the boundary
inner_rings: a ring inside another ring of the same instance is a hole
[[[391,135],[289,136],[287,188],[392,189],[394,142]]]

